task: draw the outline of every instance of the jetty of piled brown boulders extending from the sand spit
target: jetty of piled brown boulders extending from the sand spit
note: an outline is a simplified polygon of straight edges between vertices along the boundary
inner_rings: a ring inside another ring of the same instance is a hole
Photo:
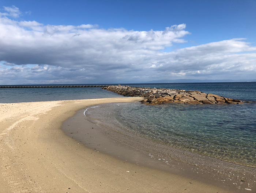
[[[225,98],[215,94],[206,94],[200,91],[185,91],[162,88],[139,88],[129,86],[107,86],[103,89],[116,92],[123,96],[143,97],[142,103],[146,105],[158,105],[162,103],[179,104],[242,104],[244,102],[236,99]]]

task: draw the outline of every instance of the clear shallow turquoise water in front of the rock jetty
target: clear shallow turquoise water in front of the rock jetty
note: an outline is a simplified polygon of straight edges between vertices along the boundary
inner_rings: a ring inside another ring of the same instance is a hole
[[[88,110],[113,127],[160,143],[242,165],[256,166],[256,104],[105,104]]]

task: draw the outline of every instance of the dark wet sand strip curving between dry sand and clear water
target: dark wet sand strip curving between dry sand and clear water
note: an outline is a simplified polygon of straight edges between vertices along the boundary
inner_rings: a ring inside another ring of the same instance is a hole
[[[94,116],[84,117],[83,111],[78,111],[74,117],[64,122],[62,129],[69,137],[84,143],[94,151],[136,165],[218,186],[226,192],[244,192],[245,188],[252,189],[255,184],[253,182],[253,179],[256,180],[253,177],[255,168],[176,149],[159,141],[113,128],[92,117]],[[243,175],[244,173],[246,176]],[[251,186],[248,187],[244,181]]]

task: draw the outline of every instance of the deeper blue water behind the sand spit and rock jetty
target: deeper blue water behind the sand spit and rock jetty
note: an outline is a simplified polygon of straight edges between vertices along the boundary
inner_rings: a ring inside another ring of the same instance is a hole
[[[60,84],[65,85],[65,84]],[[79,85],[79,84],[77,84]],[[110,85],[110,84],[109,84]],[[117,84],[113,84],[117,85]],[[256,82],[123,84],[133,87],[199,90],[234,99],[256,101]],[[42,85],[41,85],[42,86]],[[121,97],[101,88],[0,88],[0,103]]]

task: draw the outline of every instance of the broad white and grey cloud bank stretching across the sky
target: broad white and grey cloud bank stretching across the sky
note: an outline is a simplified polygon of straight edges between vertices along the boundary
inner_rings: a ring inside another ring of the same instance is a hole
[[[165,52],[186,42],[185,24],[162,31],[44,25],[10,19],[15,14],[5,11],[0,15],[0,84],[236,79],[254,78],[256,72],[256,47],[246,39]]]

